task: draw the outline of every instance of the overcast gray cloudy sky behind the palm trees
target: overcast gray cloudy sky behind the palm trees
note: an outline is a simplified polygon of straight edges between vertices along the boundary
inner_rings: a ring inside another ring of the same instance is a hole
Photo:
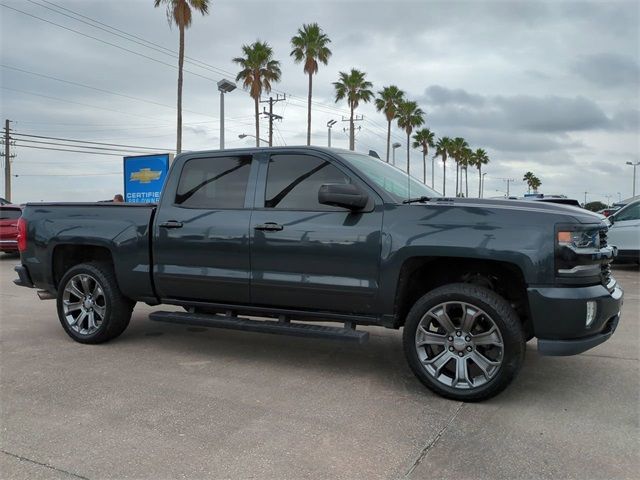
[[[14,122],[16,138],[175,148],[177,56],[160,47],[176,51],[178,34],[153,0],[1,3],[0,112]],[[638,1],[211,3],[210,14],[196,16],[186,36],[184,149],[218,147],[215,82],[233,78],[231,58],[256,39],[269,42],[282,64],[274,94],[286,93],[287,100],[275,107],[284,117],[275,143],[305,143],[307,80],[289,57],[289,40],[303,23],[318,22],[332,40],[333,56],[314,79],[314,144],[326,145],[328,120],[348,114],[345,103],[334,102],[331,82],[355,67],[367,72],[376,91],[396,84],[418,101],[437,136],[462,136],[486,149],[485,196],[503,195],[503,178],[515,179],[512,194],[523,194],[528,170],[546,193],[580,201],[585,191],[588,201],[631,195],[632,168],[625,162],[640,161]],[[147,48],[143,40],[158,46]],[[227,147],[251,145],[252,139],[238,138],[253,133],[251,98],[238,89],[226,99]],[[385,118],[372,105],[358,113],[364,121],[356,149],[383,156]],[[334,146],[348,145],[346,126],[334,127]],[[263,121],[263,137],[265,127]],[[393,139],[405,142],[395,126]],[[16,140],[16,202],[92,201],[123,190],[119,152],[87,155],[27,145],[72,149]],[[398,159],[404,158],[400,152]],[[422,176],[418,151],[411,168]],[[447,172],[447,193],[454,189],[454,172]],[[477,181],[470,170],[470,193],[477,194]],[[441,189],[441,163],[436,185]]]

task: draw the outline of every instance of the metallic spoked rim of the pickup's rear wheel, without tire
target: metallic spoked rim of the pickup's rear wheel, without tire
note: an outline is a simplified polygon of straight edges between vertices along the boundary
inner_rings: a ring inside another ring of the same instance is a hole
[[[86,273],[71,277],[62,295],[64,318],[80,335],[92,335],[102,325],[106,298],[98,281]]]

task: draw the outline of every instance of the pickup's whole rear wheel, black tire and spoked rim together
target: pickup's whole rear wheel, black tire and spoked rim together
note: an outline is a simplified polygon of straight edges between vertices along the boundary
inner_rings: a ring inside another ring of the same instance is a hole
[[[80,343],[103,343],[125,331],[135,302],[120,292],[113,268],[83,263],[62,277],[58,318],[65,332]]]

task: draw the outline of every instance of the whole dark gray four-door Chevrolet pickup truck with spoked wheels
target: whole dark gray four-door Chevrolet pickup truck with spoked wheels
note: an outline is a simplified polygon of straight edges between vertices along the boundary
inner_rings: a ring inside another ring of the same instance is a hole
[[[604,342],[623,297],[590,212],[442,198],[315,147],[179,155],[157,206],[27,204],[19,249],[15,282],[55,297],[78,342],[120,335],[136,302],[184,307],[156,321],[356,342],[358,325],[404,327],[418,379],[465,401],[502,391],[533,337],[546,355]]]

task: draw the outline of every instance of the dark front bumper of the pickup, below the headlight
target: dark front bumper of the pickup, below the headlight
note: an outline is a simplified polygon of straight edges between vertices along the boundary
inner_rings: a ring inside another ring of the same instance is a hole
[[[624,292],[612,279],[609,288],[529,288],[529,306],[538,352],[576,355],[608,340],[620,320]],[[596,317],[586,326],[587,302],[596,303]]]

